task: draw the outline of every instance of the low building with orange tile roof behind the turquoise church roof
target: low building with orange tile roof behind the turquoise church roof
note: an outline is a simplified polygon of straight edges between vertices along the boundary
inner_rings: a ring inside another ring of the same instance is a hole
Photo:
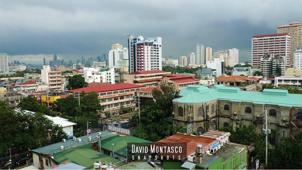
[[[259,91],[262,90],[262,84],[257,83],[254,79],[246,76],[225,76],[217,77],[215,85],[223,84],[224,86],[239,87],[244,91]]]

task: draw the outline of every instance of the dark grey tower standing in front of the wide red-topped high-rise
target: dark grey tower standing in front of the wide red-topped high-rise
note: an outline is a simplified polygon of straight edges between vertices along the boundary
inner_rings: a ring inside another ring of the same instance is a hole
[[[284,57],[279,54],[265,54],[261,57],[260,70],[263,77],[269,77],[270,75],[282,76],[285,72]],[[279,71],[277,70],[279,67]]]

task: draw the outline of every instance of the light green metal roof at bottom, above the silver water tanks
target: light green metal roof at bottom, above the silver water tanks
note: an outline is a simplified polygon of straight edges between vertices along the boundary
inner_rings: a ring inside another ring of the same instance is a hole
[[[87,167],[87,169],[93,169],[93,163],[99,161],[106,164],[113,164],[116,167],[126,165],[126,162],[114,159],[111,156],[102,154],[95,151],[92,148],[92,143],[70,148],[53,154],[53,159],[56,162],[72,162],[81,166]],[[52,155],[50,155],[52,156]]]

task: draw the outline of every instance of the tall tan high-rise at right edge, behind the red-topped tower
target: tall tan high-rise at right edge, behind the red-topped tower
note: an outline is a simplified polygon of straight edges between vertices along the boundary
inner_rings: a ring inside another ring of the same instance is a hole
[[[297,46],[302,46],[302,23],[292,22],[289,25],[282,25],[278,28],[278,34],[288,33],[291,36],[291,50],[289,56],[289,65],[294,64],[294,51]],[[288,66],[288,63],[287,66]]]

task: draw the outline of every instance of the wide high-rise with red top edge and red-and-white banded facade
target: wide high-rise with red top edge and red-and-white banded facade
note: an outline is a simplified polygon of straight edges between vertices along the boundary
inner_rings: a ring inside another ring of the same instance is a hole
[[[252,67],[260,68],[261,57],[279,54],[284,57],[285,66],[290,66],[291,37],[285,34],[255,35],[252,37]]]

